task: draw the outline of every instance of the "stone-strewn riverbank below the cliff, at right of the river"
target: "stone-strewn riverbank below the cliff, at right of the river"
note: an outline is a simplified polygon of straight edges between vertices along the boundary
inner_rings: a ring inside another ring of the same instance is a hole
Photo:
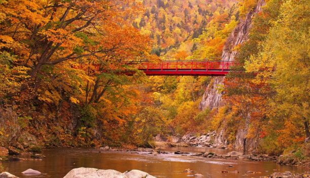
[[[245,154],[241,153],[238,150],[233,149],[233,145],[229,144],[225,139],[222,138],[221,134],[217,134],[215,131],[208,132],[204,134],[194,135],[191,133],[185,134],[183,136],[176,134],[173,136],[163,136],[156,135],[154,137],[155,145],[160,146],[185,146],[185,147],[208,147],[208,148],[216,148],[216,149],[225,149],[236,151],[237,155],[227,155],[227,154],[214,154],[214,155],[205,155],[206,153],[202,153],[199,156],[210,156],[218,159],[246,159],[251,161],[272,161],[277,162],[281,165],[296,165],[296,166],[305,166],[310,167],[310,157],[309,152],[307,154],[302,155],[300,150],[292,150],[290,153],[286,155],[267,155],[264,153],[254,151],[247,151]],[[305,142],[303,146],[304,150],[310,149],[310,143]]]

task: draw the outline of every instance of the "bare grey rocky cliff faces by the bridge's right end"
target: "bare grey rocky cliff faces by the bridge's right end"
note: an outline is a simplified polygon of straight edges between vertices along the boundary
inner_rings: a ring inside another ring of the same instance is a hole
[[[252,24],[253,17],[261,11],[261,7],[264,5],[263,0],[259,0],[257,2],[256,7],[251,10],[245,17],[245,19],[240,20],[237,26],[234,28],[232,33],[227,38],[227,41],[223,47],[222,52],[222,60],[225,61],[233,61],[237,51],[234,48],[247,41],[249,36],[249,31]],[[224,77],[214,77],[211,80],[210,84],[206,88],[203,96],[202,101],[199,104],[199,109],[214,109],[219,107],[220,105],[224,104],[222,100],[223,93],[219,93],[217,90],[217,86],[219,84],[223,84]],[[215,138],[215,144],[218,145],[225,145],[227,144],[227,140],[223,137],[224,130],[219,130],[217,137]],[[234,144],[234,148],[237,150],[242,150],[244,139],[246,137],[246,130],[239,129],[236,134],[236,142]],[[248,150],[255,150],[256,149],[256,141],[248,140],[247,141],[247,148]]]

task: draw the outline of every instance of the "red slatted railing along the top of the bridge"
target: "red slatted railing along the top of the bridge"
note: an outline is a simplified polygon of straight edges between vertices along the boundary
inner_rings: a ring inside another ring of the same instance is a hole
[[[136,69],[144,71],[227,71],[233,65],[231,61],[162,61],[154,62],[141,62],[139,64],[128,64]]]

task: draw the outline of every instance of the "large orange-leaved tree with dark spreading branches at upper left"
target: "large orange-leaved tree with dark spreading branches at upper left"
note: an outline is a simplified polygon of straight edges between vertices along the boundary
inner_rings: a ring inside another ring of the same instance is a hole
[[[133,1],[127,5],[133,6]],[[121,20],[119,15],[133,12],[130,9],[116,14],[121,6],[114,1],[4,1],[0,6],[5,14],[0,26],[2,49],[15,51],[20,63],[30,68],[29,81],[35,88],[40,85],[44,66],[94,55],[102,57],[121,48],[124,42],[107,41],[112,40],[112,28],[121,28],[116,23]],[[16,45],[11,46],[8,40]]]

